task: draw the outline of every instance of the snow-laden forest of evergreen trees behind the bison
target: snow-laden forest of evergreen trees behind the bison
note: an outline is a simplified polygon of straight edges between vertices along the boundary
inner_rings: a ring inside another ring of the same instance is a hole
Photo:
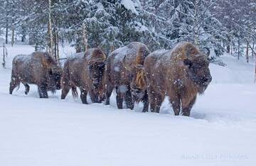
[[[55,56],[57,43],[66,41],[77,52],[87,43],[109,53],[131,41],[145,43],[153,51],[186,40],[214,50],[213,59],[223,52],[253,57],[256,48],[255,0],[0,0],[0,4],[5,43],[21,41],[35,45],[35,50],[52,47]]]

